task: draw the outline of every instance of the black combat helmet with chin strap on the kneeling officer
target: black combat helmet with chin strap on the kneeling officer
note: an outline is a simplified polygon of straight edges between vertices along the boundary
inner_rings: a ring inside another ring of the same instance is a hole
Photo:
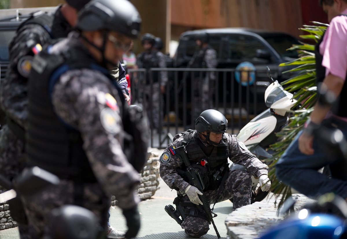
[[[227,119],[222,113],[214,109],[205,110],[195,121],[195,130],[199,133],[207,131],[207,135],[202,135],[205,137],[205,142],[209,142],[212,145],[218,144],[210,140],[210,132],[217,134],[225,133],[227,129]]]

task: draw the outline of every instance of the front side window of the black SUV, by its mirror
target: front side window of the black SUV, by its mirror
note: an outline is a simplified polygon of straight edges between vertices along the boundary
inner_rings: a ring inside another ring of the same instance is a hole
[[[230,60],[263,61],[263,59],[256,58],[257,50],[269,51],[268,47],[252,36],[229,36],[228,57]]]

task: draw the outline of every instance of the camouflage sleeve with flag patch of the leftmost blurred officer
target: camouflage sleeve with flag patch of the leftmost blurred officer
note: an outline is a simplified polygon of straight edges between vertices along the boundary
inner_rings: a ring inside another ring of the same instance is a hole
[[[43,27],[27,24],[20,28],[9,45],[9,66],[6,78],[1,80],[1,107],[22,127],[27,118],[27,76],[33,58],[32,48],[44,45],[50,36]]]

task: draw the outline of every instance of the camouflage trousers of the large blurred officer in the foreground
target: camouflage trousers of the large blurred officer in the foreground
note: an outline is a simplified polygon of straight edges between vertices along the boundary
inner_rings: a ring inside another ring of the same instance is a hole
[[[74,182],[60,180],[58,185],[50,186],[48,189],[24,198],[29,232],[32,237],[50,239],[50,224],[64,228],[61,222],[50,222],[48,218],[52,209],[66,204],[79,204],[78,206],[89,209],[96,215],[100,225],[106,228],[111,196],[105,196],[98,183],[85,183],[82,191],[81,203],[77,203]]]

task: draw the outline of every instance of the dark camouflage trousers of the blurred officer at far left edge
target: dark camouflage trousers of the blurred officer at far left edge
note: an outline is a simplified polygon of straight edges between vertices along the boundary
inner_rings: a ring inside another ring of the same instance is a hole
[[[24,142],[7,125],[2,126],[0,130],[0,174],[12,181],[24,169],[24,158]],[[8,203],[11,216],[18,222],[20,238],[30,239],[22,202],[20,199],[13,199]]]

